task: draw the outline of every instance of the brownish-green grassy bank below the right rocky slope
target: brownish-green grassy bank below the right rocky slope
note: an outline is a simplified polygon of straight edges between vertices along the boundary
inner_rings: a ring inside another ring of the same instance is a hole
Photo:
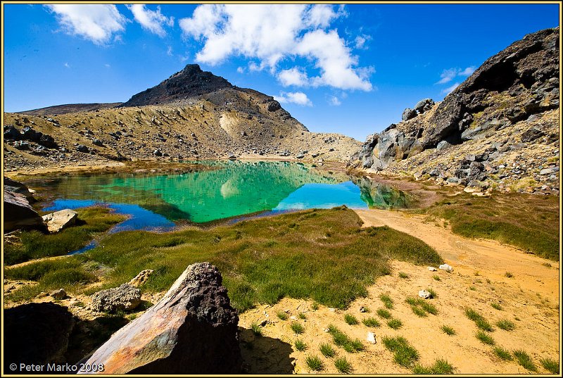
[[[452,232],[494,239],[559,261],[559,197],[460,194],[422,210],[450,222]]]

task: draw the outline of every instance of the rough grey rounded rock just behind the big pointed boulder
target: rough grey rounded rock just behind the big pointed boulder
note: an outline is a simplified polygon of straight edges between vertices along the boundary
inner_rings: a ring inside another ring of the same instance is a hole
[[[94,311],[115,313],[115,311],[129,311],[141,304],[141,291],[129,284],[101,290],[92,294],[91,308]]]

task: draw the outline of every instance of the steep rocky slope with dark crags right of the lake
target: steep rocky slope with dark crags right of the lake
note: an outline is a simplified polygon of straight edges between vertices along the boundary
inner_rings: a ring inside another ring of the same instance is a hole
[[[467,190],[558,193],[559,28],[488,58],[440,103],[367,138],[351,165]]]

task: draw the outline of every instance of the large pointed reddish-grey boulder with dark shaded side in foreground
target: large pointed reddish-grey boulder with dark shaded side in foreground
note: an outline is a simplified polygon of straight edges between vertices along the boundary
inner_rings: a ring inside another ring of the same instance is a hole
[[[240,374],[238,322],[217,267],[195,263],[87,364],[104,374]]]

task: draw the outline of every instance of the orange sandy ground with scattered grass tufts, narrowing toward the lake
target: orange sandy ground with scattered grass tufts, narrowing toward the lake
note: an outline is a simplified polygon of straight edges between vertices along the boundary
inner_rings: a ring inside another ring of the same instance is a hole
[[[410,374],[410,370],[393,362],[393,354],[381,343],[382,336],[404,336],[417,351],[419,363],[432,365],[438,358],[448,360],[459,374],[524,374],[529,373],[516,361],[502,361],[493,353],[493,347],[476,339],[478,331],[474,322],[464,315],[464,307],[481,313],[493,324],[491,336],[495,346],[508,351],[521,349],[529,353],[539,373],[548,373],[540,365],[543,358],[559,360],[559,264],[525,254],[495,241],[470,240],[452,234],[443,225],[427,222],[418,215],[385,210],[359,210],[365,226],[388,225],[422,239],[454,267],[451,273],[443,270],[431,272],[426,266],[394,261],[393,273],[377,279],[369,287],[369,295],[354,301],[348,310],[334,310],[322,305],[312,310],[312,301],[284,298],[276,305],[259,305],[240,315],[243,357],[251,373],[308,373],[305,358],[317,355],[324,363],[322,373],[336,374],[333,359],[325,358],[319,351],[320,344],[331,344],[337,357],[345,357],[355,374]],[[551,266],[548,266],[551,265]],[[404,272],[408,278],[398,276]],[[513,277],[505,277],[512,272]],[[440,278],[439,281],[434,276]],[[431,288],[438,298],[431,303],[438,308],[437,315],[418,317],[410,305],[408,296],[417,296],[420,289]],[[393,330],[386,325],[376,311],[384,305],[379,295],[393,298],[393,317],[403,322],[403,327]],[[491,303],[498,303],[496,310]],[[370,313],[360,313],[360,307]],[[288,320],[279,320],[277,313],[285,311]],[[305,320],[298,317],[304,313]],[[359,325],[347,325],[344,315],[350,313],[360,320]],[[292,320],[291,317],[294,319]],[[381,327],[369,329],[361,323],[365,317],[376,317]],[[496,322],[507,319],[516,325],[513,331],[502,330]],[[251,324],[260,324],[262,336],[251,332]],[[301,322],[305,332],[293,334],[291,322]],[[347,353],[331,343],[331,336],[324,332],[334,325],[350,337],[362,340],[365,351]],[[443,325],[455,329],[454,336],[441,331]],[[374,332],[377,344],[367,342],[367,332]],[[296,339],[304,341],[308,348],[296,351]]]

